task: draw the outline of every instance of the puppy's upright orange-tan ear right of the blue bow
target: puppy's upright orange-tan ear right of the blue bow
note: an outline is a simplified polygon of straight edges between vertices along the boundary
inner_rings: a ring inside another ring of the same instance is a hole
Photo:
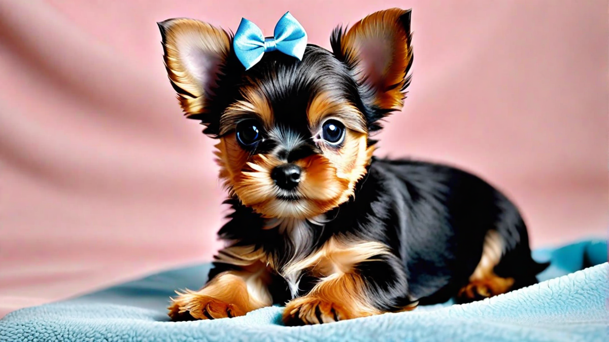
[[[368,15],[348,31],[337,27],[331,45],[334,55],[353,70],[364,101],[386,114],[403,106],[411,40],[410,10],[389,9]]]

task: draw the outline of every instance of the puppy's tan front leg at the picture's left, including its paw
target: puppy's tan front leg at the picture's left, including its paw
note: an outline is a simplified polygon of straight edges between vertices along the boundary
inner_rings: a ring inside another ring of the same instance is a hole
[[[199,291],[177,292],[178,297],[172,298],[168,309],[173,321],[243,316],[272,305],[266,264],[219,263],[213,271],[216,275]]]

